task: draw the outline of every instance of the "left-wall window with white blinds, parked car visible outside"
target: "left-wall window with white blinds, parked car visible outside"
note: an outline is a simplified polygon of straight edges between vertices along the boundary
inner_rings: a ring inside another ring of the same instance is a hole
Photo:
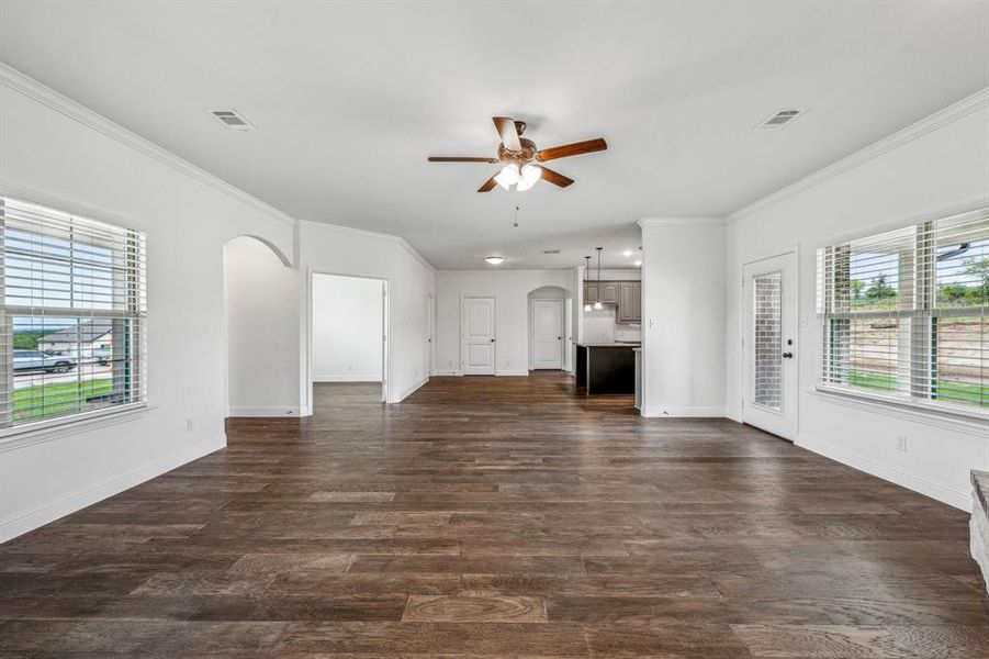
[[[0,197],[0,433],[144,404],[144,233]]]

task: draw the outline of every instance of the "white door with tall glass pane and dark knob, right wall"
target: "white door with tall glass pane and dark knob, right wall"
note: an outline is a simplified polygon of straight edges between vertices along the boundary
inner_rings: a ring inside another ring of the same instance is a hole
[[[746,264],[743,286],[743,420],[793,442],[797,436],[796,253]]]

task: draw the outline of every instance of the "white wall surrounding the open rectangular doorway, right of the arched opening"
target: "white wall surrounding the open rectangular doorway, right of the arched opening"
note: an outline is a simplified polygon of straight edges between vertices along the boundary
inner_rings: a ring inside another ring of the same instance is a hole
[[[328,217],[327,221],[334,221]],[[432,267],[401,238],[319,222],[299,223],[299,260],[307,272],[386,279],[389,282],[389,402],[395,403],[429,379],[426,340],[426,299],[436,290]],[[311,286],[305,287],[303,309]],[[304,344],[312,345],[311,316],[302,325]],[[310,373],[303,354],[300,382],[303,413],[312,409]]]

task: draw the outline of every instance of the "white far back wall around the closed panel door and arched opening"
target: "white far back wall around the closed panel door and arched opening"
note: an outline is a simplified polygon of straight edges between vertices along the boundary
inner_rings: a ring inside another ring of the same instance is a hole
[[[525,376],[529,365],[528,294],[544,286],[569,293],[573,270],[464,270],[436,273],[436,371],[460,375],[460,301],[495,298],[496,375]],[[571,293],[572,294],[572,293]],[[572,345],[571,336],[566,345]]]

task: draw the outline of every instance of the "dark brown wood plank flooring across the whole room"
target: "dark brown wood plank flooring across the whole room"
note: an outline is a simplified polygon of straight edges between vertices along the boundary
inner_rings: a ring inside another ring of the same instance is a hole
[[[0,547],[0,656],[989,657],[965,513],[570,382],[232,420]]]

